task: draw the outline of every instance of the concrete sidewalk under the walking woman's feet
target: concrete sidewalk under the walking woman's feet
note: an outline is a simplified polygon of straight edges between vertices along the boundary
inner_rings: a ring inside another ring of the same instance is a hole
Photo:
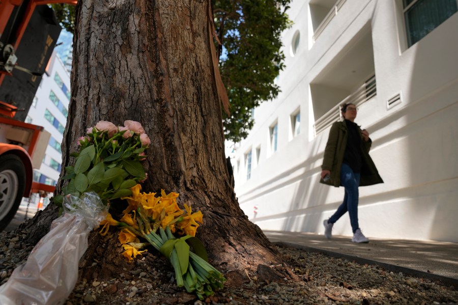
[[[302,232],[263,231],[270,241],[345,258],[361,264],[379,265],[393,272],[440,281],[458,287],[458,243],[369,238],[366,244],[351,237]]]

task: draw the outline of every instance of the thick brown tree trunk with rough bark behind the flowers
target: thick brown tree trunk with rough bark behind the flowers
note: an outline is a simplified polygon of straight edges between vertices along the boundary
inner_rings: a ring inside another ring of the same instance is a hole
[[[179,204],[203,212],[197,237],[215,267],[234,271],[226,273],[234,281],[260,264],[282,260],[240,209],[228,175],[209,2],[78,2],[63,164],[72,162],[76,138],[99,120],[140,122],[151,138],[143,189],[178,192]],[[55,215],[55,209],[45,213]],[[110,259],[119,257],[112,251],[119,247],[116,237],[103,248],[97,247],[101,240],[95,233],[90,236],[90,250],[81,262],[88,278],[109,270]],[[105,257],[105,266],[85,263],[93,255]],[[293,276],[280,272],[274,271],[281,278]]]

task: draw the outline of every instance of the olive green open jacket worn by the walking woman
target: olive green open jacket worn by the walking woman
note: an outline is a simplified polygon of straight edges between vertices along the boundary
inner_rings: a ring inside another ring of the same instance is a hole
[[[383,183],[383,180],[377,171],[374,161],[369,156],[369,149],[372,145],[372,140],[369,138],[369,141],[365,142],[361,134],[361,128],[359,128],[359,126],[358,130],[361,135],[362,158],[361,179],[359,185],[365,186]],[[324,152],[323,165],[321,167],[323,170],[331,171],[331,179],[327,182],[324,182],[323,179],[321,179],[321,183],[333,185],[335,187],[339,187],[341,185],[340,168],[342,167],[342,161],[344,160],[347,140],[348,129],[345,121],[335,122],[332,124],[331,130],[329,131],[328,143],[326,144]]]

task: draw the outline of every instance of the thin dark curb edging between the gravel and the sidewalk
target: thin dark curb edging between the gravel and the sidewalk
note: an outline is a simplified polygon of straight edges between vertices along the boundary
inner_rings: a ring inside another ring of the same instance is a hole
[[[292,248],[297,248],[297,249],[303,249],[307,252],[317,252],[317,253],[322,253],[330,257],[335,257],[335,258],[343,258],[347,259],[349,261],[355,261],[359,264],[369,264],[369,265],[378,265],[380,267],[385,268],[386,270],[393,271],[393,272],[403,272],[404,274],[408,274],[411,276],[415,276],[416,278],[424,278],[428,279],[431,281],[439,281],[443,285],[448,285],[448,286],[453,286],[455,289],[458,289],[458,280],[449,278],[448,276],[443,276],[443,275],[438,275],[434,273],[428,273],[425,271],[421,270],[415,270],[407,267],[402,267],[402,266],[396,266],[392,264],[387,264],[371,259],[366,259],[362,258],[359,256],[353,256],[353,255],[348,255],[348,254],[342,254],[338,252],[333,252],[325,249],[320,249],[316,247],[310,247],[310,246],[305,246],[305,245],[300,245],[296,243],[291,243],[291,242],[284,242],[284,241],[275,241],[273,242],[274,244],[277,245],[283,245],[287,247],[292,247]]]

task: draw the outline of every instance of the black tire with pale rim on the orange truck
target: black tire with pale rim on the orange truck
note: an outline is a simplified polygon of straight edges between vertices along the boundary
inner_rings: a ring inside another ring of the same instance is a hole
[[[25,168],[13,154],[0,156],[0,231],[14,218],[25,187]]]

